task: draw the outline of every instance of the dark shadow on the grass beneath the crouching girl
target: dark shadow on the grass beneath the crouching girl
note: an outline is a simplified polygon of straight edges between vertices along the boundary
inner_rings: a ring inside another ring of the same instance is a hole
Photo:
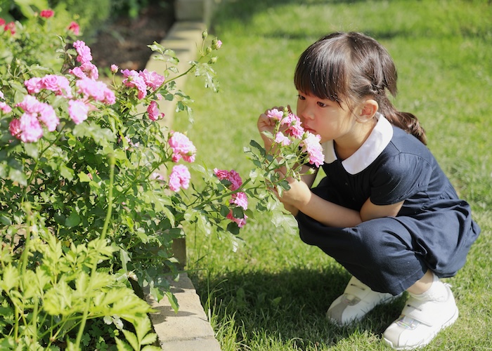
[[[226,272],[194,280],[202,303],[216,315],[218,327],[233,319],[237,341],[280,340],[292,347],[335,345],[354,333],[380,334],[399,316],[405,298],[377,306],[361,322],[339,327],[325,318],[325,312],[343,291],[350,275],[339,267],[330,270],[294,268],[268,273]],[[209,292],[207,292],[209,286]],[[230,333],[229,333],[230,334]]]

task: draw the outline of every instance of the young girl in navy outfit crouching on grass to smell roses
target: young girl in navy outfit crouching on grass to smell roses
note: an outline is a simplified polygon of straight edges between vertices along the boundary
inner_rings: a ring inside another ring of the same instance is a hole
[[[415,116],[389,101],[396,68],[377,41],[353,32],[321,38],[299,58],[294,84],[297,116],[321,136],[327,176],[313,189],[316,174],[290,179],[279,199],[301,239],[353,275],[327,317],[349,324],[408,291],[384,340],[396,350],[427,345],[458,318],[453,293],[439,279],[458,272],[479,235],[470,205],[425,146]],[[271,124],[261,114],[260,133]]]

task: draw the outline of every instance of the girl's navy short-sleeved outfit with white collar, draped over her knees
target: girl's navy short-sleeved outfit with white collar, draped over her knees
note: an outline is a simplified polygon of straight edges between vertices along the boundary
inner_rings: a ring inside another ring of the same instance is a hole
[[[465,265],[480,228],[427,147],[381,114],[365,143],[348,159],[323,145],[327,174],[311,191],[360,211],[404,201],[396,217],[356,227],[328,227],[299,212],[301,239],[318,246],[374,291],[397,295],[432,270],[452,277]]]

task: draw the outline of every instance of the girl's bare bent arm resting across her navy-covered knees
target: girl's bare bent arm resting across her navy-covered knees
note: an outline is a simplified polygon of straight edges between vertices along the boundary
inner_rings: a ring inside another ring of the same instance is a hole
[[[397,204],[378,206],[368,199],[359,212],[318,197],[304,182],[291,180],[289,184],[290,190],[283,192],[283,196],[279,197],[285,208],[289,211],[293,208],[290,212],[294,216],[301,211],[306,216],[330,227],[354,227],[365,220],[396,216],[403,205],[401,201]]]

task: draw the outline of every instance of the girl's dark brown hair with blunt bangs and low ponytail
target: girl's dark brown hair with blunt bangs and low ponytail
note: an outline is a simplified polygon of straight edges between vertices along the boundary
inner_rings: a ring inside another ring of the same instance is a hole
[[[396,96],[396,67],[388,51],[365,34],[337,32],[311,44],[302,53],[294,73],[298,91],[340,103],[370,96],[379,111],[395,126],[426,144],[425,131],[417,117],[399,112],[387,92]]]

